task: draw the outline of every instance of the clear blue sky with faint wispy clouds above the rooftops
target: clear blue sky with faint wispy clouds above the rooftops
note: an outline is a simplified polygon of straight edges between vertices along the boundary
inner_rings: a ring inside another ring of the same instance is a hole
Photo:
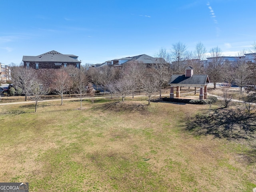
[[[256,0],[0,0],[0,62],[51,50],[85,63],[202,42],[224,56],[256,40]]]

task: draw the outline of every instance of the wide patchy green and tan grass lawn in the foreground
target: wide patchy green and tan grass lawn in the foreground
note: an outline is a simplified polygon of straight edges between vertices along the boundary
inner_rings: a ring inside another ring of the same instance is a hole
[[[29,182],[31,192],[256,187],[253,122],[230,126],[223,111],[205,116],[207,105],[146,104],[54,101],[36,113],[34,104],[0,106],[0,182]]]

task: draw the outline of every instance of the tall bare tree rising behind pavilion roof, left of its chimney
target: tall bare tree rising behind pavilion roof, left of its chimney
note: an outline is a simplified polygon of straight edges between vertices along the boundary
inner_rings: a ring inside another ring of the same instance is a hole
[[[183,44],[182,42],[178,42],[175,44],[172,44],[171,49],[171,56],[172,56],[172,64],[175,63],[175,66],[173,66],[174,71],[179,74],[183,73],[183,70],[181,70],[181,61],[184,61],[187,54],[187,46]]]

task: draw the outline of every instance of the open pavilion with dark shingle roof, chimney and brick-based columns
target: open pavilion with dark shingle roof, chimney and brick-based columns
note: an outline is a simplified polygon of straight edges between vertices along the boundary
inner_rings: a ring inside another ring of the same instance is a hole
[[[200,87],[199,99],[207,99],[207,85],[210,83],[208,75],[194,75],[193,68],[186,68],[185,75],[172,75],[170,85],[170,98],[174,98],[174,87],[176,87],[176,98],[180,97],[180,87]]]

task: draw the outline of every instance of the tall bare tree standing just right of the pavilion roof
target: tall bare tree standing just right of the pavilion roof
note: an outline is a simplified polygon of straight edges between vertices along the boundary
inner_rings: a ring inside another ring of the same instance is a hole
[[[210,50],[210,62],[207,66],[207,72],[211,82],[214,84],[214,89],[216,88],[216,83],[222,80],[222,72],[223,72],[223,58],[222,52],[220,48],[214,47]]]

